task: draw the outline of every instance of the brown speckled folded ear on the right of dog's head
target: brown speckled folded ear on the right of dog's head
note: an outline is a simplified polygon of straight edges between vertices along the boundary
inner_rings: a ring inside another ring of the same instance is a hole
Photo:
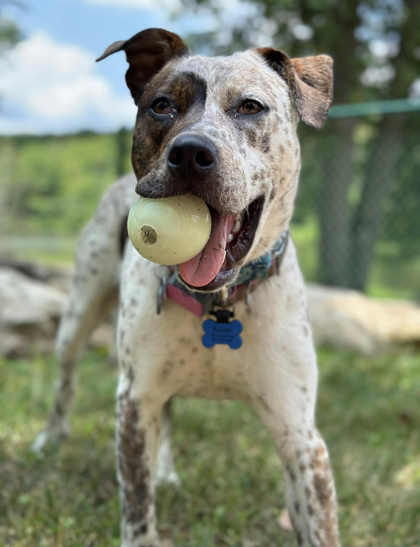
[[[288,84],[299,118],[321,129],[333,98],[331,57],[317,55],[290,59],[272,48],[257,48],[256,51]]]

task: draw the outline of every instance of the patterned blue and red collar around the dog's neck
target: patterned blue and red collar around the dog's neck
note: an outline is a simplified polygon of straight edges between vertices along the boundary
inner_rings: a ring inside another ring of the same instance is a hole
[[[258,285],[268,277],[280,272],[288,241],[289,231],[285,230],[270,251],[257,260],[242,266],[232,285],[213,293],[191,291],[178,281],[173,269],[167,271],[166,275],[160,278],[157,314],[160,314],[166,298],[173,300],[198,317],[209,314],[215,306],[221,308],[232,306],[242,298],[245,298],[246,304],[249,304],[251,293]]]

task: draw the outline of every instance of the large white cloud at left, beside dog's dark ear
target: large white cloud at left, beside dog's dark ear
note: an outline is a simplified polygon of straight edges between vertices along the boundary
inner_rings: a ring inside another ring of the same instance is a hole
[[[36,33],[0,58],[0,133],[112,131],[136,109],[97,73],[94,56]]]

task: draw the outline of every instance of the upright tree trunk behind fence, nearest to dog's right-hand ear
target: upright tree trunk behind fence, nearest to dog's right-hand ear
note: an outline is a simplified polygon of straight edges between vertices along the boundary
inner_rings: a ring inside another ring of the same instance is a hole
[[[352,101],[352,93],[358,82],[358,70],[354,63],[358,47],[354,33],[359,24],[357,3],[338,2],[331,10],[331,20],[335,25],[334,29],[330,29],[335,43],[322,51],[334,51],[334,104],[346,104]],[[339,37],[337,29],[340,29]],[[318,279],[325,285],[337,287],[348,287],[350,282],[348,189],[353,176],[354,126],[354,118],[330,119],[325,128],[328,148],[323,150],[323,179],[318,204]]]

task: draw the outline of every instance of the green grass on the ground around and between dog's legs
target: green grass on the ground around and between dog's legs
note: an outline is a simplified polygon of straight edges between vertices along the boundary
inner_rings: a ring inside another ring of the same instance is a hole
[[[343,547],[420,544],[420,356],[320,353],[318,425],[335,469]],[[116,372],[83,359],[71,438],[29,451],[52,402],[51,358],[0,361],[0,545],[118,547]],[[277,525],[281,470],[271,440],[239,403],[178,400],[174,450],[183,485],[161,488],[159,527],[177,547],[295,545]]]

